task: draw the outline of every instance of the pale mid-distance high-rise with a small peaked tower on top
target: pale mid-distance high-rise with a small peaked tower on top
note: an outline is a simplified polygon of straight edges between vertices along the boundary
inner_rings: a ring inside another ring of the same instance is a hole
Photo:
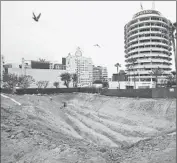
[[[92,59],[82,56],[80,48],[75,55],[68,54],[66,57],[66,70],[69,73],[76,73],[78,76],[78,85],[90,86],[93,80]]]

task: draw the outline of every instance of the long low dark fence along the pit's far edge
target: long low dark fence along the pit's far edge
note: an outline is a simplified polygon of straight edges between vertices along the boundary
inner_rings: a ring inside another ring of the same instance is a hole
[[[177,98],[176,88],[158,88],[158,89],[98,89],[98,88],[46,88],[46,89],[17,89],[17,94],[52,94],[52,93],[100,93],[106,96],[117,97],[139,97],[139,98]],[[1,89],[3,93],[11,93],[11,90]]]

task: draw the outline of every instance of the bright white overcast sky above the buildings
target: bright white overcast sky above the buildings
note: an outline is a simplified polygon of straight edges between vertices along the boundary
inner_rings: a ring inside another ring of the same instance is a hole
[[[142,5],[152,8],[151,1]],[[176,22],[176,1],[157,1],[155,9]],[[6,63],[22,57],[61,62],[79,46],[95,65],[107,66],[111,77],[115,63],[124,69],[124,25],[139,11],[139,1],[1,1],[1,54]],[[41,12],[39,22],[32,12]]]

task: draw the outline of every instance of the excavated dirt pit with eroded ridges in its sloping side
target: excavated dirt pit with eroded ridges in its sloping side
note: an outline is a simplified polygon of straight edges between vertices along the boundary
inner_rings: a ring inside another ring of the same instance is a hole
[[[176,99],[7,96],[1,96],[3,163],[176,162]]]

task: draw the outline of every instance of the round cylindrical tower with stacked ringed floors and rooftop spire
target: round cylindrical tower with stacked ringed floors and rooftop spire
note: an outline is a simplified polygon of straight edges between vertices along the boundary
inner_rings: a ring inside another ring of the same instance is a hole
[[[170,73],[171,28],[171,21],[156,10],[138,12],[125,25],[125,61],[130,81],[135,77],[136,81],[153,82],[154,69],[163,71],[159,79]]]

